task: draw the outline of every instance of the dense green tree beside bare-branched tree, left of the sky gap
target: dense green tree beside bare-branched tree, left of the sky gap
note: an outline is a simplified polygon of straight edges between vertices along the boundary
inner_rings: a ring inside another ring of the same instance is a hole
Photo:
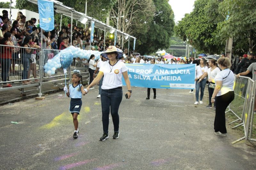
[[[158,49],[170,46],[170,37],[173,35],[174,14],[168,0],[153,0],[156,12],[153,22],[148,23],[146,33],[135,33],[138,37],[135,51],[140,54],[155,53]]]

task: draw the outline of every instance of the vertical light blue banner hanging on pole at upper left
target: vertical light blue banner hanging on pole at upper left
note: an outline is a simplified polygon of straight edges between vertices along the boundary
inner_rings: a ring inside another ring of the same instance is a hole
[[[40,27],[48,32],[54,29],[53,2],[38,0],[38,12]]]

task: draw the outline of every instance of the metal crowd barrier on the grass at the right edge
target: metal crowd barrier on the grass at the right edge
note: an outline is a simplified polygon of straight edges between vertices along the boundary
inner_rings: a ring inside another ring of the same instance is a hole
[[[242,121],[241,124],[238,124],[233,128],[243,125],[244,137],[232,142],[232,144],[235,144],[244,139],[249,140],[248,138],[249,133],[250,134],[252,133],[251,117],[253,117],[253,110],[254,110],[255,82],[249,77],[244,77],[244,76],[235,77],[234,92],[235,92],[235,98],[230,103],[228,111],[231,111],[238,118],[237,120],[231,123],[234,123],[238,120]]]

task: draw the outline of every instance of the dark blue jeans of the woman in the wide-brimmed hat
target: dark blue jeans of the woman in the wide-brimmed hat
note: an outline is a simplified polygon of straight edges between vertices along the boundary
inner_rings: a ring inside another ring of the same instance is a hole
[[[119,105],[122,101],[123,89],[118,87],[115,89],[101,89],[100,100],[102,109],[103,132],[108,133],[109,111],[111,112],[114,132],[119,131]]]

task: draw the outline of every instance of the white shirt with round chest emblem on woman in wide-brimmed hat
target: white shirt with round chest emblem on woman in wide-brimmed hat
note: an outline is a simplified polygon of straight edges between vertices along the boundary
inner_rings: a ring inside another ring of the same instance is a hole
[[[127,68],[122,61],[117,61],[114,66],[109,64],[109,61],[103,62],[100,66],[100,70],[104,74],[101,89],[114,89],[122,87],[122,75],[127,71]]]

